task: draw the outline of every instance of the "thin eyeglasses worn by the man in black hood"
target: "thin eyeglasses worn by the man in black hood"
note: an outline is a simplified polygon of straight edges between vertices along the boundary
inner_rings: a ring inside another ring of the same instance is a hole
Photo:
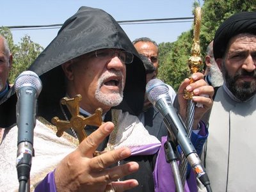
[[[115,54],[118,54],[118,58],[123,63],[132,63],[133,61],[133,54],[128,51],[117,51],[115,49],[99,49],[95,51],[95,56],[100,59],[113,58]]]

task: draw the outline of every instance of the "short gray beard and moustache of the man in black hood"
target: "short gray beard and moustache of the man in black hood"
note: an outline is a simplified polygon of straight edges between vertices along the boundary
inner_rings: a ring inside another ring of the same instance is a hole
[[[104,82],[105,79],[108,79],[109,76],[113,76],[115,74],[116,76],[122,75],[121,72],[116,72],[116,71],[111,71],[111,72],[105,72],[100,76],[97,89],[95,92],[95,99],[97,99],[99,102],[106,106],[118,106],[123,100],[124,97],[124,77],[122,78],[122,88],[120,92],[112,92],[112,93],[102,93],[100,91],[100,87],[102,86],[102,83]]]

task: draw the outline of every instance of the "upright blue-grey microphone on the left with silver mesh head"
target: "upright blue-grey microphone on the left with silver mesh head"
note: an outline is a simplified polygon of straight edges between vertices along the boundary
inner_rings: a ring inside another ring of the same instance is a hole
[[[33,156],[33,137],[36,124],[36,100],[42,90],[42,82],[32,71],[22,72],[15,80],[17,93],[16,118],[18,150],[16,168],[20,184],[28,184]],[[23,190],[21,190],[23,191]]]

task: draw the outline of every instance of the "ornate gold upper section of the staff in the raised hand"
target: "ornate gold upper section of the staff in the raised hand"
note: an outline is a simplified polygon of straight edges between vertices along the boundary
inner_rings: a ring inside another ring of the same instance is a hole
[[[195,8],[195,17],[194,17],[194,37],[193,37],[193,45],[191,49],[191,57],[188,60],[188,65],[191,70],[191,73],[196,73],[199,71],[202,66],[202,58],[200,58],[200,28],[201,28],[201,19],[202,13],[200,6]],[[190,78],[190,83],[193,83],[193,79]],[[192,99],[193,93],[184,91],[184,99]]]

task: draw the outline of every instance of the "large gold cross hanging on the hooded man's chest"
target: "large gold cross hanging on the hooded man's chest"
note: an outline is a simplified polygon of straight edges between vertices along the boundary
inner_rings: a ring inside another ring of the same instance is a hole
[[[84,131],[84,127],[86,125],[93,125],[99,127],[102,124],[102,109],[98,108],[95,110],[95,113],[91,116],[84,117],[83,115],[79,115],[79,102],[82,100],[81,95],[76,95],[72,99],[68,99],[67,97],[63,97],[61,99],[61,104],[67,106],[68,111],[70,111],[72,117],[70,121],[68,120],[60,120],[58,116],[54,116],[51,122],[56,125],[58,131],[56,135],[61,137],[64,131],[67,129],[74,129],[77,133],[77,137],[79,143],[81,143],[86,137],[86,132]]]

